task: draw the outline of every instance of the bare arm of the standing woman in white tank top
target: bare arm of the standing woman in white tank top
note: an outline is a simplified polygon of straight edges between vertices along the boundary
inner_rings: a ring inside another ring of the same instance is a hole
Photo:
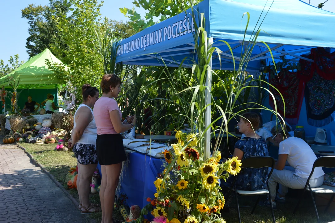
[[[76,127],[72,130],[71,147],[80,140],[86,127],[92,121],[92,112],[86,107],[79,108],[76,116],[78,118],[76,119]]]

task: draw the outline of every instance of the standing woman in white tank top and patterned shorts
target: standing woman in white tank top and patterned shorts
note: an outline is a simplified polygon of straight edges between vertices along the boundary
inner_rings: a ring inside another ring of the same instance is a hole
[[[96,125],[91,108],[99,98],[99,91],[97,88],[85,84],[82,86],[82,96],[84,102],[79,105],[74,114],[69,148],[73,148],[74,155],[78,161],[78,210],[81,211],[81,214],[91,214],[99,212],[98,206],[91,204],[88,197],[90,180],[98,163],[95,146]]]

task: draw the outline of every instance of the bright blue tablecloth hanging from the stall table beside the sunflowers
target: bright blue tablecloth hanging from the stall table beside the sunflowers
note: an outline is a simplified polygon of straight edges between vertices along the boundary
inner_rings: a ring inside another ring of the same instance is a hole
[[[162,160],[140,153],[128,154],[127,168],[122,177],[121,193],[128,197],[129,207],[138,205],[142,209],[148,204],[146,199],[154,198],[156,187],[153,182],[157,174],[163,171]],[[98,169],[101,175],[100,165]]]

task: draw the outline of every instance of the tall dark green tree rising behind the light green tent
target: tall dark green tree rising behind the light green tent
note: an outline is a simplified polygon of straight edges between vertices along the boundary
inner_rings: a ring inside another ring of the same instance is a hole
[[[29,24],[26,48],[30,57],[41,53],[46,48],[50,48],[55,42],[59,44],[58,47],[65,47],[65,44],[61,41],[56,22],[52,17],[55,14],[66,15],[70,4],[67,0],[50,0],[49,4],[49,6],[29,4],[28,7],[21,10],[22,18],[28,19],[27,23]]]

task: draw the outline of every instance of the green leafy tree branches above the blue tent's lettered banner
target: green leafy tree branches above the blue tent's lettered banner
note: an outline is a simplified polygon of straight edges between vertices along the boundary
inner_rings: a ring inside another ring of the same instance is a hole
[[[192,0],[193,4],[200,1]],[[148,11],[145,13],[144,18],[141,18],[141,15],[136,12],[134,7],[132,9],[120,8],[120,11],[130,18],[130,24],[139,32],[148,26],[154,25],[154,17],[158,17],[159,21],[163,21],[183,12],[184,8],[190,7],[190,0],[134,0],[133,4]]]

